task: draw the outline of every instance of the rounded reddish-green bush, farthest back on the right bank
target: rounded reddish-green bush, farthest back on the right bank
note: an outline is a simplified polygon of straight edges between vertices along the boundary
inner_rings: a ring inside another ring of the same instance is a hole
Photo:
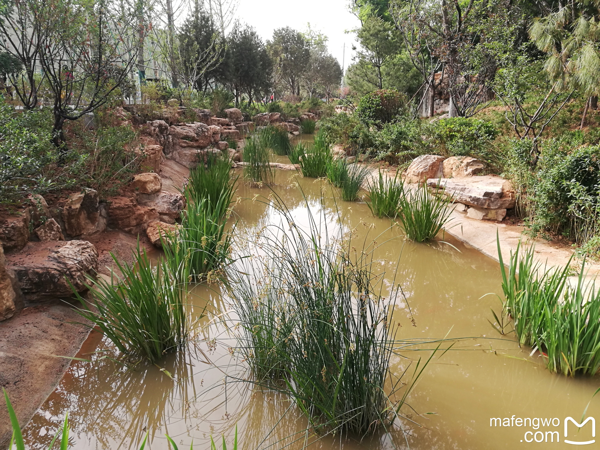
[[[398,91],[381,89],[365,95],[358,102],[356,117],[365,125],[382,127],[383,124],[406,115],[408,100]]]

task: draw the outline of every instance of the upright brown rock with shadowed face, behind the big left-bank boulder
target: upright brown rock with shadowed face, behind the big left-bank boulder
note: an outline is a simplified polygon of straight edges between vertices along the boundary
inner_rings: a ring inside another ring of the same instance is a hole
[[[71,194],[62,208],[62,220],[69,236],[91,235],[100,231],[97,227],[99,218],[98,193],[93,189],[84,188]]]

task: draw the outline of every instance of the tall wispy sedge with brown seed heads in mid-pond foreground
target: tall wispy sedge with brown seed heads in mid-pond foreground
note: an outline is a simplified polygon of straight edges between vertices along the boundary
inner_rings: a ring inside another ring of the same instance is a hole
[[[249,248],[253,257],[227,269],[236,351],[256,383],[293,398],[311,426],[365,434],[391,424],[412,386],[389,370],[400,292],[388,295],[369,248],[328,236],[308,208],[308,230],[277,208],[284,219],[256,236],[260,252]]]

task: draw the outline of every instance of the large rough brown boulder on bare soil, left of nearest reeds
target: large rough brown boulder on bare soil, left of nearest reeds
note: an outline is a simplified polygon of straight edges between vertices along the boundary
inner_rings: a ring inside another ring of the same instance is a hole
[[[88,241],[29,242],[6,263],[31,303],[73,296],[69,282],[77,292],[85,291],[86,275],[95,276],[98,252]]]

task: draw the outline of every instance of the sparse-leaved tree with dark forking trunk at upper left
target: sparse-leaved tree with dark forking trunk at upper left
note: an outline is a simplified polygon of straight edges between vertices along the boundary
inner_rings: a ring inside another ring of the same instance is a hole
[[[64,148],[65,121],[103,106],[136,62],[138,5],[100,0],[19,0],[4,11],[0,46],[25,67],[11,83],[26,108],[39,101],[40,86],[52,102],[52,142]],[[41,67],[41,73],[36,70]]]

